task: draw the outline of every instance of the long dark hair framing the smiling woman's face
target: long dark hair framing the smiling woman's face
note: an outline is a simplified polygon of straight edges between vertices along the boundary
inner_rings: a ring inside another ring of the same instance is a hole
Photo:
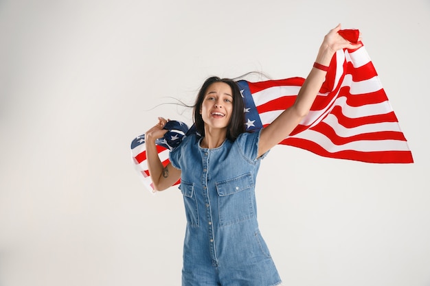
[[[244,133],[245,130],[245,115],[244,115],[244,104],[242,95],[240,95],[240,90],[238,84],[229,78],[218,78],[216,76],[208,78],[205,80],[200,88],[199,94],[196,98],[196,103],[194,104],[194,123],[196,124],[197,132],[201,136],[205,136],[205,122],[201,117],[200,110],[203,104],[203,99],[205,99],[205,94],[207,88],[215,82],[224,82],[228,84],[233,93],[233,112],[231,114],[229,126],[227,126],[227,139],[230,141],[235,141],[239,134]]]

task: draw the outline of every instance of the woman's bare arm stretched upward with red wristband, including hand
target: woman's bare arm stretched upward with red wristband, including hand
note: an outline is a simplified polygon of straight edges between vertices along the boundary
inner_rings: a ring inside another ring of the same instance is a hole
[[[352,44],[348,40],[342,38],[342,36],[338,34],[340,29],[341,25],[339,24],[324,36],[323,43],[321,47],[319,47],[318,55],[315,60],[317,64],[322,64],[327,67],[337,50],[345,48],[357,49],[361,47],[361,44]],[[308,115],[319,89],[326,80],[326,73],[327,71],[317,69],[316,67],[310,70],[293,106],[284,110],[278,118],[261,131],[258,144],[258,156],[262,156],[262,154],[269,151],[271,147],[285,139],[286,136],[296,128],[300,121]]]

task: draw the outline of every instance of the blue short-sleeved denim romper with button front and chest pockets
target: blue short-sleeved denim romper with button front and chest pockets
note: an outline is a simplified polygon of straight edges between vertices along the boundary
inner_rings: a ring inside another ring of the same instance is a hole
[[[170,153],[181,169],[187,228],[183,286],[271,286],[280,276],[257,222],[256,175],[260,132],[243,133],[220,147],[186,137]]]

